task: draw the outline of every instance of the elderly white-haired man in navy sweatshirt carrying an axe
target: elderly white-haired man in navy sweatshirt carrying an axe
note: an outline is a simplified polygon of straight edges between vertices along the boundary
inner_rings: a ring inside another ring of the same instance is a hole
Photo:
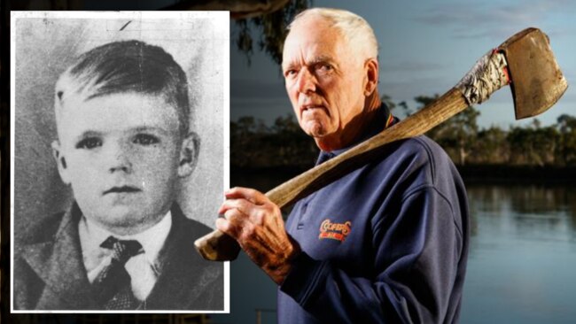
[[[378,96],[378,44],[354,13],[311,9],[284,42],[286,90],[318,163],[395,121]],[[279,285],[280,323],[452,323],[468,251],[463,182],[425,136],[303,198],[286,224],[253,189],[226,192],[217,227]]]

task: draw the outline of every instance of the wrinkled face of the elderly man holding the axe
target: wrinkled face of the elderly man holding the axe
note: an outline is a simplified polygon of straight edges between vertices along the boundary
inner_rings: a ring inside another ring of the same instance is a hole
[[[363,63],[326,20],[307,18],[292,27],[284,42],[285,86],[300,127],[316,143],[348,140],[343,130],[362,113],[366,97]]]

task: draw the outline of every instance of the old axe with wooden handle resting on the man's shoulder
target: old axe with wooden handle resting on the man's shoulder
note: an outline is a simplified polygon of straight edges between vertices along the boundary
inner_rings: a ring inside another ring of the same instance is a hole
[[[463,79],[405,120],[354,146],[335,158],[292,178],[266,193],[282,208],[306,197],[331,181],[366,164],[387,143],[423,135],[472,104],[480,104],[496,90],[510,84],[516,119],[545,112],[564,94],[568,83],[557,65],[549,38],[537,28],[527,28],[480,58]],[[198,238],[194,243],[202,257],[224,261],[237,258],[237,242],[221,231]]]

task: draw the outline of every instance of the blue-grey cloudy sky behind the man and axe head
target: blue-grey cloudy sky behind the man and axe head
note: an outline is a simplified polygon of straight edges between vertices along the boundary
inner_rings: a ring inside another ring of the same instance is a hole
[[[350,10],[368,20],[379,42],[380,94],[413,108],[415,96],[443,94],[487,50],[525,27],[539,27],[549,35],[570,86],[538,119],[549,125],[560,114],[576,116],[576,1],[316,0],[313,6]],[[233,40],[237,28],[233,22],[230,26]],[[234,43],[230,50],[231,120],[252,115],[271,123],[291,114],[282,75],[272,59],[256,50],[248,66]],[[509,89],[500,90],[478,108],[480,127],[518,125]]]

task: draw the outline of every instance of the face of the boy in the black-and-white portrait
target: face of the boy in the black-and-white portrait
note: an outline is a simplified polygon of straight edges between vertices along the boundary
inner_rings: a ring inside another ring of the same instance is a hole
[[[70,98],[59,113],[54,156],[84,215],[118,235],[156,224],[196,150],[182,141],[175,108],[162,96],[121,93]]]

